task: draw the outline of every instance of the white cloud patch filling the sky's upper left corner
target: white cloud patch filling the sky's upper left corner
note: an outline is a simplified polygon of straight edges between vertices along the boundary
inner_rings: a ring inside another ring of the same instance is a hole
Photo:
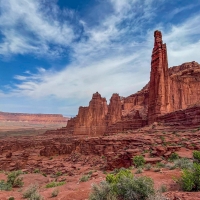
[[[48,7],[39,0],[1,1],[0,27],[4,36],[0,54],[51,54],[57,56],[59,46],[68,46],[75,38],[68,21],[56,18],[57,7],[47,13]],[[65,11],[67,12],[67,11]],[[69,11],[70,13],[71,11]],[[58,45],[54,52],[48,44]]]

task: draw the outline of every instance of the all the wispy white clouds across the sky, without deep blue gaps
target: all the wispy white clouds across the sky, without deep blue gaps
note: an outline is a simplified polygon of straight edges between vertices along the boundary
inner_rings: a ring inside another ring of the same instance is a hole
[[[67,105],[61,104],[58,110],[64,108],[65,113],[70,114],[76,113],[74,110],[85,105],[96,91],[107,99],[113,92],[130,95],[149,81],[153,31],[156,29],[163,31],[170,66],[200,61],[200,13],[179,24],[171,21],[164,24],[154,21],[164,1],[107,1],[112,12],[106,13],[98,24],[91,25],[86,19],[79,18],[76,26],[69,20],[77,17],[76,13],[66,10],[66,20],[60,20],[56,4],[51,5],[53,12],[50,14],[44,12],[40,1],[6,1],[0,18],[4,35],[0,54],[61,56],[69,48],[72,60],[59,71],[56,67],[54,70],[42,67],[36,73],[29,70],[16,75],[18,82],[12,85],[12,95],[42,99],[42,102],[43,99],[65,99]],[[175,15],[190,7],[174,8],[171,12]],[[8,19],[9,15],[11,18]],[[23,29],[16,32],[22,16]],[[76,31],[79,28],[82,32]],[[37,40],[33,41],[33,37]],[[76,103],[74,99],[77,99]]]

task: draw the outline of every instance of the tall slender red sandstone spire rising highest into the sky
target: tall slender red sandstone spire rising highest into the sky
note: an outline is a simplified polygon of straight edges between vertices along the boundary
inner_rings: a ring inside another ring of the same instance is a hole
[[[154,32],[154,38],[149,87],[149,124],[156,121],[158,116],[165,114],[169,109],[167,47],[162,42],[162,33],[160,31]]]

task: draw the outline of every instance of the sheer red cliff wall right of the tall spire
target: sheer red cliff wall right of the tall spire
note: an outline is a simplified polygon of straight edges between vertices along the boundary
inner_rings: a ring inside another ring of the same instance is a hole
[[[200,101],[200,65],[184,63],[169,69],[170,112]]]

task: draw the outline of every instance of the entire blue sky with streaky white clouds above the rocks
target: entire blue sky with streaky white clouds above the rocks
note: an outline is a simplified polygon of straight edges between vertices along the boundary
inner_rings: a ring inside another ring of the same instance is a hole
[[[0,0],[0,111],[76,115],[98,91],[150,77],[153,32],[169,66],[200,63],[200,0]]]

